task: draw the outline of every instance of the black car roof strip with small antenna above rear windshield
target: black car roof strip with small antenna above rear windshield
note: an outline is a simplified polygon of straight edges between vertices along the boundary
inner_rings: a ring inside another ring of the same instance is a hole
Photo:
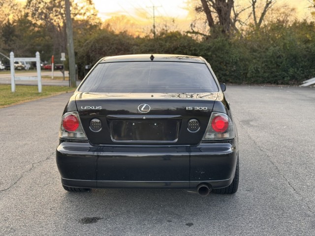
[[[99,61],[102,62],[120,62],[120,61],[182,61],[182,62],[195,62],[205,63],[203,58],[186,56],[186,55],[172,55],[172,54],[137,54],[137,55],[123,55],[114,57],[105,57]]]

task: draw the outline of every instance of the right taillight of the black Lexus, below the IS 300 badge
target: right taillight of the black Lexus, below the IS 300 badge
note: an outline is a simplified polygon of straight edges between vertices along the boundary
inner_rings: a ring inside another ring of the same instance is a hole
[[[234,139],[235,131],[232,120],[224,113],[211,114],[203,141]]]

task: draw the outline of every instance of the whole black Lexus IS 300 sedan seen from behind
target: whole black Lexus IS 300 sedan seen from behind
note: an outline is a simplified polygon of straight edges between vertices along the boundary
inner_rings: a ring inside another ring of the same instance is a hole
[[[63,112],[63,188],[235,193],[238,135],[224,90],[201,57],[100,59]]]

